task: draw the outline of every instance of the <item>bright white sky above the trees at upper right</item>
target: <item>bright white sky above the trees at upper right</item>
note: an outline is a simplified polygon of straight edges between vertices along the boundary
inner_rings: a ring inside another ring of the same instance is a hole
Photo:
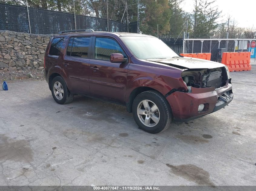
[[[228,14],[230,14],[231,20],[233,21],[234,18],[238,27],[254,26],[256,28],[256,0],[216,0],[214,5],[222,11],[218,22],[227,21]],[[184,11],[192,13],[194,0],[184,0],[180,6]]]

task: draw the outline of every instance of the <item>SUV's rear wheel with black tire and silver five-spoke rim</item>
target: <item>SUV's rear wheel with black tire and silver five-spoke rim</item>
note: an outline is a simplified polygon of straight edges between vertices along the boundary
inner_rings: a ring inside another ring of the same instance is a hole
[[[57,86],[55,86],[57,85]],[[59,91],[60,90],[60,91]],[[58,104],[71,103],[73,101],[73,94],[68,90],[65,80],[61,76],[56,76],[51,82],[52,97]],[[60,93],[57,93],[60,92]],[[55,95],[56,94],[56,95]]]

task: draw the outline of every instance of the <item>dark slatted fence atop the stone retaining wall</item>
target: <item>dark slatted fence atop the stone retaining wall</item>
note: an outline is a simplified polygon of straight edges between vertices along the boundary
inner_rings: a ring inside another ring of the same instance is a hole
[[[76,19],[75,19],[76,18]],[[0,4],[0,30],[55,34],[63,30],[91,28],[95,31],[127,32],[127,25],[104,18],[75,15],[40,8]],[[108,29],[109,28],[109,29]]]

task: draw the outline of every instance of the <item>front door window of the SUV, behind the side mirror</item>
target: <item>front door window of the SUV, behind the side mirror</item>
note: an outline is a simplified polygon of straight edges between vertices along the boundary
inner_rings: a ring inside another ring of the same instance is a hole
[[[127,58],[124,51],[115,40],[110,38],[97,37],[95,42],[94,58],[110,60],[110,55],[112,53],[120,53],[124,55],[124,58]]]

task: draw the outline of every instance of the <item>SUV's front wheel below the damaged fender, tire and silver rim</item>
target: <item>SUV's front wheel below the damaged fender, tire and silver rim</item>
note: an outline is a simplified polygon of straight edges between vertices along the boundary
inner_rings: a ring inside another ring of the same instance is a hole
[[[165,97],[151,90],[135,97],[132,114],[140,129],[153,134],[168,129],[173,119],[171,107]]]

